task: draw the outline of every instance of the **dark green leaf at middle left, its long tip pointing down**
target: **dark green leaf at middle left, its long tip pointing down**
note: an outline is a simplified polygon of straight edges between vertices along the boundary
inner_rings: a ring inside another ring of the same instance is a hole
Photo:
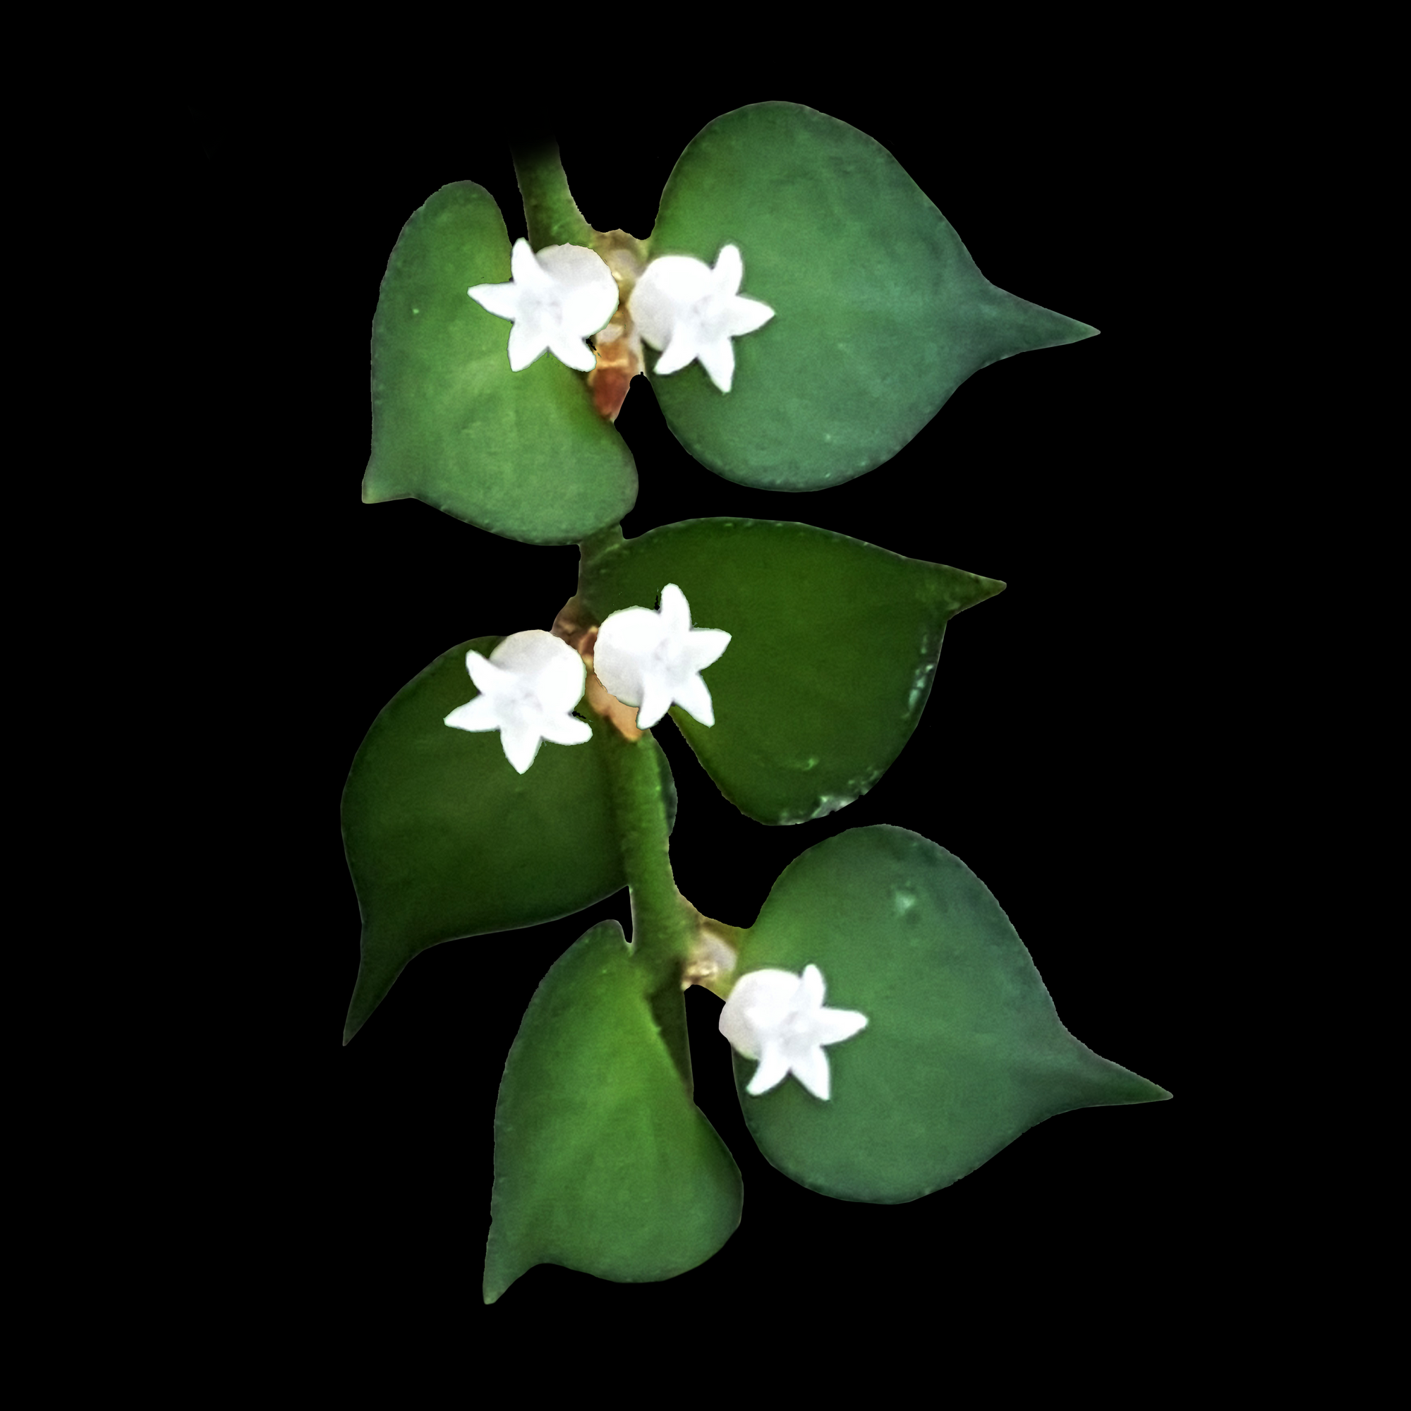
[[[594,741],[545,741],[519,775],[498,731],[444,724],[478,694],[466,653],[490,656],[501,641],[481,636],[437,656],[382,708],[353,761],[343,845],[363,959],[344,1043],[426,947],[552,921],[626,885]],[[649,744],[670,828],[676,786],[662,746]]]

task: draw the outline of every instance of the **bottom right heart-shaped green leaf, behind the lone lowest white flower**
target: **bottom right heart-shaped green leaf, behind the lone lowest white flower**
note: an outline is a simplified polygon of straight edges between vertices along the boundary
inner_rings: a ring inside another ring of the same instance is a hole
[[[756,1064],[732,1057],[761,1151],[823,1195],[914,1201],[1046,1118],[1171,1096],[1064,1029],[985,883],[906,828],[852,828],[779,876],[738,974],[801,975],[810,964],[823,972],[825,1007],[868,1016],[824,1048],[828,1099],[792,1074],[751,1096]]]

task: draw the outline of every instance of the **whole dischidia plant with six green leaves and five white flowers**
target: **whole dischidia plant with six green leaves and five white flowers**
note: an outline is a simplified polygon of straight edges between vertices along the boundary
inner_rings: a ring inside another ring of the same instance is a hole
[[[526,240],[454,182],[392,251],[363,498],[576,543],[577,591],[549,626],[432,662],[343,796],[363,917],[344,1043],[419,951],[629,892],[631,940],[583,934],[505,1061],[485,1302],[539,1263],[672,1278],[738,1226],[739,1168],[693,1101],[691,985],[724,1002],[765,1157],[845,1201],[914,1201],[1046,1118],[1168,1098],[1064,1029],[995,896],[916,832],[817,844],[752,926],[673,882],[667,715],[748,818],[821,817],[882,777],[945,624],[1005,584],[796,522],[619,528],[638,374],[701,464],[807,491],[883,466],[989,363],[1098,330],[995,288],[885,148],[794,103],[707,126],[646,238],[588,227],[552,144],[514,157]],[[571,869],[545,871],[556,851]]]

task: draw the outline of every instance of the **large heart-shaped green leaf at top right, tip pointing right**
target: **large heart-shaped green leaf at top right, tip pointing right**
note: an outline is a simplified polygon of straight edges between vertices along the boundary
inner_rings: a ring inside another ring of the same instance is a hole
[[[797,103],[755,103],[682,154],[652,258],[714,267],[775,316],[732,341],[734,385],[700,363],[648,377],[680,443],[727,480],[821,490],[880,466],[989,363],[1098,330],[995,288],[892,154]]]

